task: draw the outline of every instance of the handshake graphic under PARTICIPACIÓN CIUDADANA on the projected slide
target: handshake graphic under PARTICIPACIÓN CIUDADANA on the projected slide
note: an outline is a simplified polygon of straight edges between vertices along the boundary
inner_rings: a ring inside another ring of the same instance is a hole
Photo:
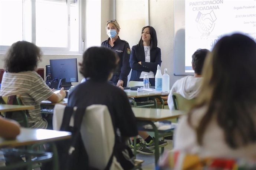
[[[213,11],[207,14],[202,14],[198,11],[196,22],[198,23],[198,29],[201,33],[210,33],[214,28],[214,21],[216,20],[216,16]]]

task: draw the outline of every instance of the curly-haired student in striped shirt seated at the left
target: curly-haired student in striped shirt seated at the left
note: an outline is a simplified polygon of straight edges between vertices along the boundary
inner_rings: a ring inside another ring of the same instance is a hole
[[[35,44],[27,41],[13,43],[6,53],[0,95],[20,95],[25,105],[35,106],[29,110],[29,127],[46,129],[47,121],[42,118],[40,102],[46,99],[59,102],[66,93],[63,88],[58,94],[53,93],[37,74],[35,69],[41,57],[41,50]]]

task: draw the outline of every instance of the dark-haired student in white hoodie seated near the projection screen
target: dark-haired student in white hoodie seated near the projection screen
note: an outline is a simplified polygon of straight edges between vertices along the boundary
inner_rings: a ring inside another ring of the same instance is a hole
[[[194,76],[185,76],[177,80],[173,87],[171,88],[170,94],[168,95],[168,106],[170,110],[174,110],[173,104],[173,93],[179,93],[186,99],[195,98],[200,89],[202,83],[202,68],[204,64],[204,59],[206,58],[207,53],[210,52],[207,49],[198,49],[192,55],[192,68],[195,71]]]

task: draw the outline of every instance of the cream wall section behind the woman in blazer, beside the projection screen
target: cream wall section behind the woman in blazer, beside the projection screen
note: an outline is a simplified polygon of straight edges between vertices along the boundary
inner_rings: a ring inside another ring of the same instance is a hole
[[[141,29],[155,28],[158,47],[161,48],[161,72],[168,69],[170,87],[183,76],[174,76],[174,1],[173,0],[116,0],[116,19],[122,28],[119,36],[130,47],[140,40]]]

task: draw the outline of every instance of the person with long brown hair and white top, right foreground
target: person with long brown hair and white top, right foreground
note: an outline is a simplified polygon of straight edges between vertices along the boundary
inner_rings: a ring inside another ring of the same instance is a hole
[[[180,119],[174,150],[256,162],[256,43],[222,37],[203,68],[197,105]]]

